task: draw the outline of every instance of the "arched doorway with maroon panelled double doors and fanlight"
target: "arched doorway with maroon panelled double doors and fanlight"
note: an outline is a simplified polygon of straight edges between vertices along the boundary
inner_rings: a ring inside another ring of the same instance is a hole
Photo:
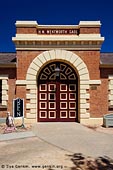
[[[47,64],[38,76],[37,92],[38,122],[78,121],[78,77],[69,64]]]

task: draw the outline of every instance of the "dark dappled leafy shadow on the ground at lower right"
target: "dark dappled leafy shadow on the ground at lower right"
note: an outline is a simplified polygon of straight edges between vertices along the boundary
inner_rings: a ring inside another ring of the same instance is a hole
[[[98,158],[86,157],[81,153],[68,155],[74,163],[70,170],[113,170],[113,159],[104,156]]]

